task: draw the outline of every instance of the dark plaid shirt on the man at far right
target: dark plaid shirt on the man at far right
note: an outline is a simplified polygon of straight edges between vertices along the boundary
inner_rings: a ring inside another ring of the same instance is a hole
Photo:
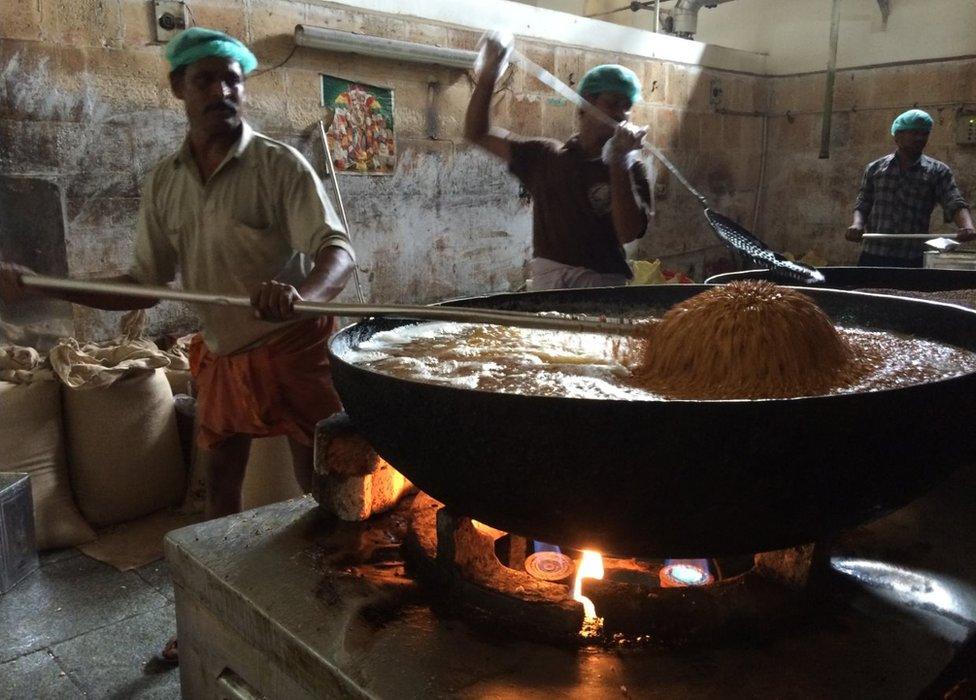
[[[871,233],[928,233],[932,210],[942,205],[945,220],[952,221],[969,205],[956,186],[952,170],[935,158],[922,156],[902,170],[894,153],[879,158],[864,170],[854,209],[866,220]],[[865,241],[864,252],[898,258],[922,254],[921,240]]]

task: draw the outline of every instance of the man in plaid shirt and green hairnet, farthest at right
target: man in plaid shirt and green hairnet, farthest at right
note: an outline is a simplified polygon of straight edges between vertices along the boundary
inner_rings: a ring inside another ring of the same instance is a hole
[[[936,204],[945,220],[959,227],[957,240],[976,237],[969,204],[945,163],[922,154],[932,131],[932,117],[920,109],[901,114],[891,125],[897,149],[869,164],[861,179],[854,221],[847,240],[860,241],[865,224],[872,233],[928,233]],[[919,239],[864,242],[859,265],[921,267],[924,241]]]

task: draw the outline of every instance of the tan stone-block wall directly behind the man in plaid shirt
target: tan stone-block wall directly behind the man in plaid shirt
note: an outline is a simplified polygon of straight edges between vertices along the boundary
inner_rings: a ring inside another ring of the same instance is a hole
[[[894,150],[890,127],[918,106],[935,128],[927,153],[955,172],[963,195],[976,197],[976,147],[955,142],[956,114],[976,103],[976,60],[961,59],[839,71],[830,158],[818,158],[825,75],[770,78],[771,111],[759,233],[784,250],[815,249],[831,264],[856,262],[844,240],[864,167]],[[936,207],[932,231],[943,223]]]

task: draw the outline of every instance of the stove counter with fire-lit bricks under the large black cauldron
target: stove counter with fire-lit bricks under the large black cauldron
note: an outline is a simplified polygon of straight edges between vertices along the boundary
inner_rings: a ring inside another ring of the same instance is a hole
[[[976,629],[976,469],[829,545],[719,560],[699,588],[610,559],[583,581],[604,618],[584,638],[571,585],[526,573],[531,541],[350,454],[327,507],[168,537],[184,697],[942,697],[971,663],[943,673]]]

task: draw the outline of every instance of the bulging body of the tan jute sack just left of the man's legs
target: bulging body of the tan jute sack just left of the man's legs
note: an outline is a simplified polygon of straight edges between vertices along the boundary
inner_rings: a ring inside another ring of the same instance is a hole
[[[173,392],[161,369],[130,370],[107,386],[65,389],[68,465],[92,525],[179,505],[186,469]]]

